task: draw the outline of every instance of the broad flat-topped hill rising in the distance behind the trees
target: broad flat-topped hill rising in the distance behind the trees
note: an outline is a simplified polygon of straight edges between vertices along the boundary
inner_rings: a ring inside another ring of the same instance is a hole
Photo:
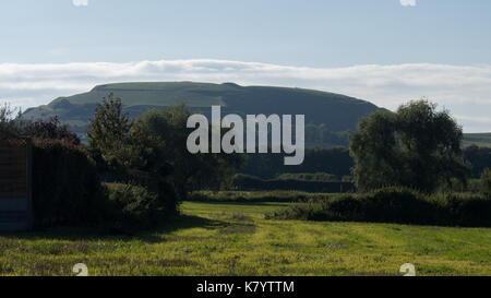
[[[224,115],[303,114],[307,123],[325,124],[332,132],[355,130],[361,117],[379,109],[369,102],[313,90],[165,82],[100,85],[87,93],[59,97],[49,105],[31,108],[24,116],[27,119],[58,116],[70,129],[83,134],[97,103],[109,93],[122,99],[124,111],[131,117],[149,108],[166,108],[184,102],[192,110],[204,114],[209,112],[212,105],[221,105]]]

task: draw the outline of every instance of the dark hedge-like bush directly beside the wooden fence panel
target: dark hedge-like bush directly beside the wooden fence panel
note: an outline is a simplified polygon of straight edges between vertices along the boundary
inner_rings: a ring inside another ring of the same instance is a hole
[[[83,147],[33,141],[34,226],[91,225],[104,217],[105,192]]]

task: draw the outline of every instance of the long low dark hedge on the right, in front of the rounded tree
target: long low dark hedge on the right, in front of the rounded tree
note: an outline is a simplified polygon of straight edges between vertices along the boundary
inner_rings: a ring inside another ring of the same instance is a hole
[[[427,195],[407,188],[385,188],[331,194],[267,214],[267,218],[490,227],[490,215],[491,200],[478,195]]]

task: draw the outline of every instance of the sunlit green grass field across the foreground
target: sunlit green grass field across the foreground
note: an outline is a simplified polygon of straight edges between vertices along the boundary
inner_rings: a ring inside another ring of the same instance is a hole
[[[0,275],[491,275],[491,229],[267,220],[287,203],[183,203],[172,228],[1,234]]]

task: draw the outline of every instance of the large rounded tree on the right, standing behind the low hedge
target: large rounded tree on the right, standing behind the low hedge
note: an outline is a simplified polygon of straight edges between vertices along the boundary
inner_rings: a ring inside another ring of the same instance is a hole
[[[397,112],[376,111],[359,122],[350,154],[359,190],[406,186],[434,191],[451,178],[466,181],[463,132],[447,110],[427,100],[410,102]]]

